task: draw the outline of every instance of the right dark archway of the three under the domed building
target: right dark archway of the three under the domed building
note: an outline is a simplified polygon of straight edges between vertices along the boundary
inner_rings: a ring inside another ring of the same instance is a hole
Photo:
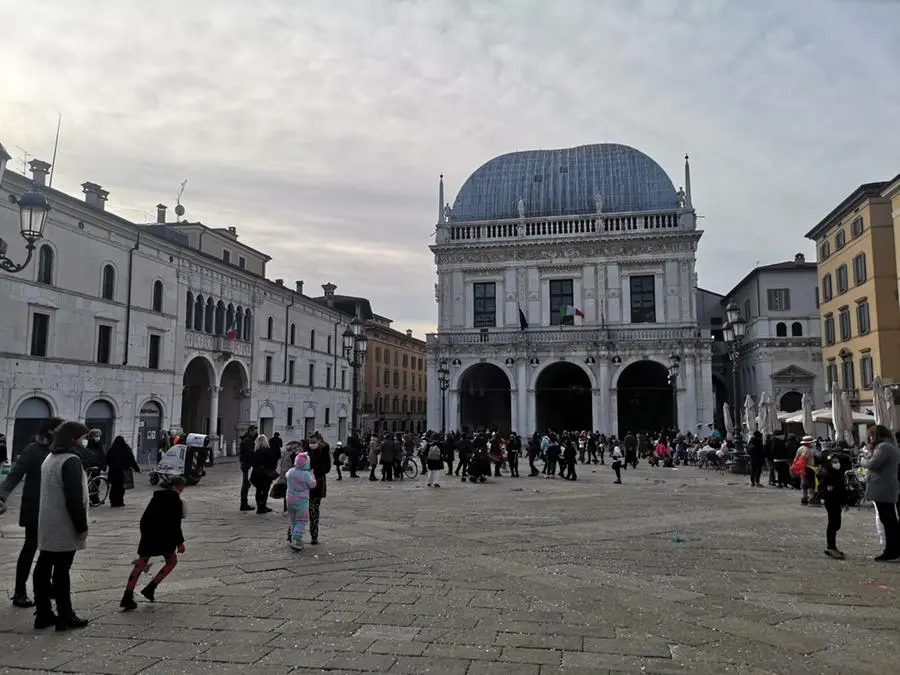
[[[619,437],[626,433],[659,433],[676,426],[669,371],[658,361],[626,366],[616,382]]]

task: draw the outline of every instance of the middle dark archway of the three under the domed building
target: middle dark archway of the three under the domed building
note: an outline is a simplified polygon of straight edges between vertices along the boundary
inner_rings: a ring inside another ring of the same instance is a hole
[[[546,366],[534,386],[537,430],[593,430],[591,380],[570,361]]]

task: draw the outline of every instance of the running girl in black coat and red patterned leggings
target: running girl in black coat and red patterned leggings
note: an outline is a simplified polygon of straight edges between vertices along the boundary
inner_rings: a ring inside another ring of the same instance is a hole
[[[144,515],[141,516],[141,541],[138,544],[138,557],[134,561],[128,584],[119,607],[126,612],[137,607],[134,601],[134,587],[141,574],[150,570],[150,558],[162,556],[166,560],[163,568],[153,577],[141,591],[141,595],[153,602],[156,598],[156,587],[175,569],[178,564],[177,550],[184,553],[184,534],[181,532],[181,521],[185,516],[184,502],[181,492],[186,481],[181,476],[173,476],[164,484],[163,489],[156,490]]]

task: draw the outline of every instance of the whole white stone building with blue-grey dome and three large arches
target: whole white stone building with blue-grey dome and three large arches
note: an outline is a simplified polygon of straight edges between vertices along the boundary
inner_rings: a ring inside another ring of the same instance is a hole
[[[676,190],[651,158],[615,144],[497,157],[452,208],[442,178],[429,428],[624,434],[712,422],[687,158],[684,181]]]

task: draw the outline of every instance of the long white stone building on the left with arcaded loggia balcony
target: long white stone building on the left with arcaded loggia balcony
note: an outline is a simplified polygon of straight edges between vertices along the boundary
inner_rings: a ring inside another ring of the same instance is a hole
[[[17,261],[8,197],[46,183],[50,167],[31,168],[0,183],[0,237]],[[82,200],[43,187],[52,210],[33,262],[0,273],[0,432],[13,451],[49,416],[122,435],[141,459],[162,429],[210,433],[221,450],[250,424],[346,439],[341,334],[353,317],[332,284],[308,297],[303,282],[266,279],[269,257],[235,228],[167,221],[162,205],[156,223],[135,224],[105,210],[99,185],[83,189]]]

